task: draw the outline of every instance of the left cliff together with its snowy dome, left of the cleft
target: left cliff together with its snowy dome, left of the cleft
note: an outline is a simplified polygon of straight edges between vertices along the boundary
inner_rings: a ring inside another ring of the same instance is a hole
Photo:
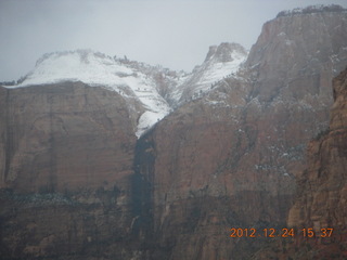
[[[184,77],[78,50],[46,54],[20,84],[0,87],[1,256],[145,258],[137,136],[169,113]]]

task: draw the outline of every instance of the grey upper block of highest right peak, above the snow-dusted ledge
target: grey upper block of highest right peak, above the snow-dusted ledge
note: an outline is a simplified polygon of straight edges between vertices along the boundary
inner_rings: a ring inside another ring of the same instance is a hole
[[[324,86],[345,66],[346,23],[345,11],[279,16],[266,23],[246,62],[256,79],[252,96],[330,106],[332,89]]]

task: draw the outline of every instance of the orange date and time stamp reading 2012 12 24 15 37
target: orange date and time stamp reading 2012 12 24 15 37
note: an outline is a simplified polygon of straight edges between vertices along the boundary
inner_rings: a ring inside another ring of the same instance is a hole
[[[230,237],[331,237],[334,229],[230,229]]]

